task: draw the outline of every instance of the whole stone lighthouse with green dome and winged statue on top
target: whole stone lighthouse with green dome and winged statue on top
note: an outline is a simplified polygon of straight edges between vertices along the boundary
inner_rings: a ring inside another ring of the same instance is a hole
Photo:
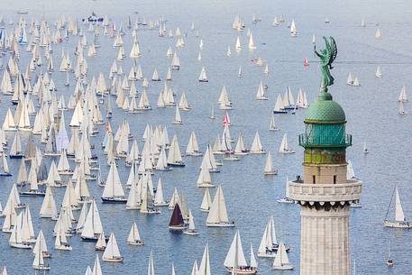
[[[326,49],[316,52],[324,66],[322,86],[299,135],[303,177],[289,181],[288,191],[301,206],[300,275],[350,275],[350,206],[360,201],[362,181],[346,177],[352,135],[345,130],[343,107],[327,88],[334,82],[329,69],[337,50],[333,38],[324,39]]]

